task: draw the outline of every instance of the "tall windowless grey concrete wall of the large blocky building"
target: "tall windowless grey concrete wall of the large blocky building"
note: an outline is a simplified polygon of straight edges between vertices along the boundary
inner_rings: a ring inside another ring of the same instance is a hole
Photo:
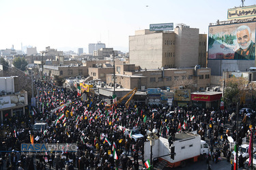
[[[194,67],[198,65],[199,29],[175,28],[175,66]]]

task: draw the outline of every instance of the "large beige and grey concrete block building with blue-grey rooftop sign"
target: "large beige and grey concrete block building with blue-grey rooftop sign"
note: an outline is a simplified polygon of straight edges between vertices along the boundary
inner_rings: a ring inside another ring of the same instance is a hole
[[[135,31],[129,37],[129,61],[141,69],[206,67],[206,41],[199,29],[180,25],[174,31]]]

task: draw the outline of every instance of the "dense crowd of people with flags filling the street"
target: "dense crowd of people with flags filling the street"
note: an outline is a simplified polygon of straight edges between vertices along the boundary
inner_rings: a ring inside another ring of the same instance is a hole
[[[122,104],[111,105],[106,109],[106,103],[95,95],[87,94],[87,99],[81,99],[76,91],[57,87],[53,82],[36,81],[35,86],[40,89],[38,107],[31,107],[23,116],[4,118],[1,124],[1,148],[8,152],[1,152],[0,169],[3,165],[8,169],[143,168],[146,131],[152,128],[170,140],[175,139],[177,132],[197,131],[201,139],[209,140],[211,159],[215,163],[221,152],[229,161],[227,136],[236,141],[236,115],[227,110],[141,103],[128,108]],[[167,114],[173,110],[175,112]],[[47,122],[47,128],[33,131],[33,124],[39,121]],[[224,131],[227,124],[232,128]],[[143,138],[135,141],[125,133],[126,129],[139,129]],[[248,135],[248,129],[246,122],[241,122],[239,142]],[[216,146],[220,139],[223,139],[222,148]],[[76,143],[77,152],[44,152],[38,156],[18,152],[21,143],[31,143],[31,140],[33,143]]]

